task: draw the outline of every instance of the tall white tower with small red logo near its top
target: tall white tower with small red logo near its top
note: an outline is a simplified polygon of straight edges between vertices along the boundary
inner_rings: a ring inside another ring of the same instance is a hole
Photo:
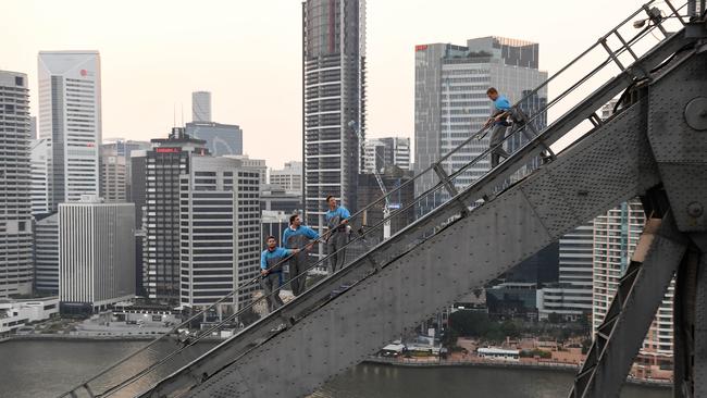
[[[39,52],[39,138],[51,147],[50,210],[99,195],[101,70],[98,51]]]

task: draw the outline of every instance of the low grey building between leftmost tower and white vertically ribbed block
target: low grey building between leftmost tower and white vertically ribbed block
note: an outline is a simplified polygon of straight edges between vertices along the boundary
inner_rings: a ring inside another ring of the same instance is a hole
[[[59,213],[40,215],[35,223],[35,290],[59,294]]]

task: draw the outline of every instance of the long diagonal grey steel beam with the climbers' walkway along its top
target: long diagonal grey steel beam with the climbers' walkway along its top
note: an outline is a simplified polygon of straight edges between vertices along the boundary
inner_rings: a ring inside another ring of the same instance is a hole
[[[672,35],[638,62],[650,70],[687,40]],[[620,73],[544,132],[551,145],[628,87]],[[461,215],[542,151],[522,147],[455,200],[377,246],[271,316],[249,326],[142,397],[298,397],[355,365],[405,327],[445,308],[576,225],[660,184],[645,101],[622,111],[494,200]],[[439,227],[444,225],[443,227]],[[435,235],[427,238],[429,233]],[[357,282],[358,281],[358,282]],[[356,282],[331,297],[338,285]],[[283,319],[294,325],[280,329]]]

